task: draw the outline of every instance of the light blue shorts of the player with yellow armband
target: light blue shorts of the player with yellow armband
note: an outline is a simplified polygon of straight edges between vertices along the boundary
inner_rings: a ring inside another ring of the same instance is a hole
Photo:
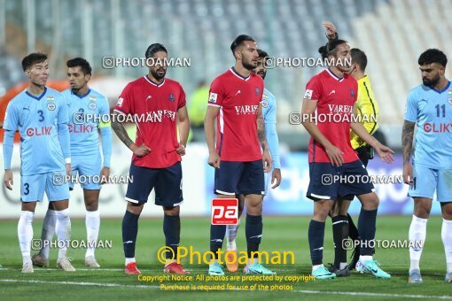
[[[100,152],[89,156],[72,156],[71,158],[72,179],[77,178],[82,189],[99,190],[101,185],[100,171],[102,169],[102,158]],[[69,181],[69,189],[74,189],[74,181]]]

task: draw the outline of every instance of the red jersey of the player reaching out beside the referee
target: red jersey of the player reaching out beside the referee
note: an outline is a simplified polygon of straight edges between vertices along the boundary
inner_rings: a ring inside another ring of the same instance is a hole
[[[329,69],[318,73],[306,85],[304,98],[318,100],[316,108],[317,127],[340,151],[344,162],[358,159],[350,144],[350,121],[356,102],[358,84],[344,74],[337,77]],[[331,162],[325,149],[312,138],[309,141],[309,163]]]

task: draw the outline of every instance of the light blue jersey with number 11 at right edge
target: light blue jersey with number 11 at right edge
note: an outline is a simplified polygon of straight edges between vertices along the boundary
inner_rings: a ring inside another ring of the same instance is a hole
[[[417,123],[413,162],[452,169],[452,87],[441,91],[419,85],[409,92],[405,120]]]

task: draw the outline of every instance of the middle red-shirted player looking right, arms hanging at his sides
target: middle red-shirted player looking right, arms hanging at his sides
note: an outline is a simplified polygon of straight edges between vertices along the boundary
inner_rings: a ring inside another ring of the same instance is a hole
[[[230,45],[235,66],[214,79],[210,86],[206,119],[208,164],[215,168],[214,193],[219,198],[245,195],[245,235],[249,262],[245,274],[275,274],[257,261],[262,236],[262,198],[265,172],[271,169],[269,147],[265,137],[261,99],[264,89],[261,76],[252,73],[259,55],[257,45],[248,35],[238,35]],[[216,147],[214,120],[217,120]],[[263,153],[261,152],[261,149]],[[218,250],[226,226],[210,228],[210,251],[215,259],[209,274],[223,275]],[[253,253],[253,256],[252,256]]]

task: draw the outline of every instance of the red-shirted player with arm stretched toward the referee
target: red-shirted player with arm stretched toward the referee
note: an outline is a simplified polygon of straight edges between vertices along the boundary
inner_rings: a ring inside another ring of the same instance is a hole
[[[359,120],[352,119],[352,115],[356,116],[358,85],[347,74],[350,46],[346,41],[333,40],[319,52],[333,63],[308,81],[301,109],[303,126],[311,135],[307,197],[314,200],[314,216],[308,229],[312,274],[316,279],[336,277],[322,263],[325,220],[334,201],[355,195],[362,203],[358,220],[362,245],[356,269],[378,278],[390,278],[390,274],[380,269],[372,258],[370,242],[375,238],[378,197],[373,184],[365,181],[368,174],[350,144],[350,129],[369,143],[383,161],[392,163],[394,152],[369,135]]]

